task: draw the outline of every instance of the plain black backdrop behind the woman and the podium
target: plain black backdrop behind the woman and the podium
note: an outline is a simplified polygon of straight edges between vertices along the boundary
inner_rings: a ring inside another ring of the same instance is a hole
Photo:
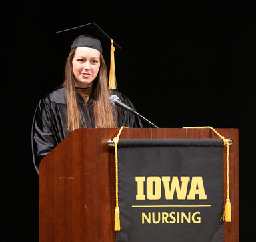
[[[0,11],[1,241],[37,241],[33,113],[63,81],[69,45],[55,31],[92,21],[122,47],[117,85],[147,119],[239,128],[240,239],[253,237],[254,1],[9,0]]]

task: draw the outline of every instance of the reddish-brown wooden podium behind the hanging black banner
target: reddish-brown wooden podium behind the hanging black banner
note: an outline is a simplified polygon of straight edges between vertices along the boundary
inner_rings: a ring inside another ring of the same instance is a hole
[[[39,167],[39,241],[115,241],[115,153],[107,145],[119,129],[77,129]],[[224,241],[239,241],[238,129],[216,129],[229,147],[231,223]],[[123,129],[120,139],[211,138],[211,129]],[[224,201],[227,197],[224,148]],[[224,202],[225,204],[225,202]]]

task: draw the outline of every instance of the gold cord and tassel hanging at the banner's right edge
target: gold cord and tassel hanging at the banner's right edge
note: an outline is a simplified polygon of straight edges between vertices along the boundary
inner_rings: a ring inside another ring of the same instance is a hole
[[[226,205],[223,213],[223,221],[231,222],[231,203],[229,199],[229,141],[225,139],[224,136],[221,136],[213,127],[211,126],[200,126],[200,127],[183,127],[183,129],[211,129],[214,133],[219,135],[221,139],[224,142],[224,145],[227,146],[227,199],[226,199]]]

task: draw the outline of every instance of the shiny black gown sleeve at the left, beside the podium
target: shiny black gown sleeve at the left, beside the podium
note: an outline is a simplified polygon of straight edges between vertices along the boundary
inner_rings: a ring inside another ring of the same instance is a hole
[[[45,99],[39,101],[35,110],[31,135],[33,163],[39,173],[41,159],[57,145],[51,125],[50,104]]]

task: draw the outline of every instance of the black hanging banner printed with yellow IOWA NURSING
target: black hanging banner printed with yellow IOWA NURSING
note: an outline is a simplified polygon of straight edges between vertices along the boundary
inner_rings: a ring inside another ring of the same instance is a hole
[[[116,241],[223,241],[221,139],[120,139]]]

